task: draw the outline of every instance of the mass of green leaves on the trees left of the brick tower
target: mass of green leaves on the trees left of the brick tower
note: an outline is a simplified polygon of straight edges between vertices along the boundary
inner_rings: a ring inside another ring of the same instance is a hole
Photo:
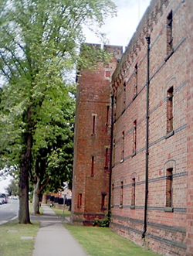
[[[61,186],[73,170],[75,88],[66,73],[83,59],[83,26],[100,27],[115,6],[111,0],[2,0],[0,7],[0,158],[19,167],[21,189],[26,172],[34,185],[40,180],[39,189]],[[95,59],[93,51],[83,67]]]

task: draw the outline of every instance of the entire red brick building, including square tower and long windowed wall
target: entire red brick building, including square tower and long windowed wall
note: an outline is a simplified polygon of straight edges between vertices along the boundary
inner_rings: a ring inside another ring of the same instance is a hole
[[[72,221],[109,209],[111,229],[164,255],[193,255],[192,24],[191,0],[152,0],[119,63],[77,90]]]

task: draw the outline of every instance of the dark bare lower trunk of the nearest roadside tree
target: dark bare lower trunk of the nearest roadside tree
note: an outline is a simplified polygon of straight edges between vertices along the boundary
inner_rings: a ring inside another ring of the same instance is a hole
[[[22,162],[20,167],[19,224],[31,224],[29,218],[29,170],[25,161]]]

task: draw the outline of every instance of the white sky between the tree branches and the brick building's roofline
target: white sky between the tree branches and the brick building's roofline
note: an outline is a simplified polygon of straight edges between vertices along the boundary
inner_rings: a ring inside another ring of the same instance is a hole
[[[107,20],[102,32],[107,34],[109,44],[127,46],[151,0],[113,0],[117,5],[117,17]],[[87,43],[100,43],[97,37],[86,32]]]

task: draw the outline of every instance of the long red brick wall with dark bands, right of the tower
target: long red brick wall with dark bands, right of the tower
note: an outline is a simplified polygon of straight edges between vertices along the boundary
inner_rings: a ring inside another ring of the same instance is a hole
[[[171,11],[173,51],[168,54],[166,24]],[[152,1],[113,74],[113,91],[117,106],[113,125],[115,162],[112,170],[114,189],[111,228],[137,244],[147,244],[154,251],[165,255],[184,255],[186,251],[188,80],[185,75],[185,15],[183,1]],[[146,179],[147,34],[151,36],[148,197],[147,232],[142,240]],[[136,80],[137,95],[134,91]],[[173,131],[167,133],[168,112],[171,111],[168,109],[168,90],[171,87],[174,120]],[[123,104],[125,95],[126,102]],[[134,121],[137,123],[135,154]],[[171,192],[167,191],[168,170],[172,170]],[[131,205],[133,177],[136,181],[134,207]],[[123,207],[120,207],[121,183],[124,183]],[[169,207],[166,203],[167,193],[172,193]]]

